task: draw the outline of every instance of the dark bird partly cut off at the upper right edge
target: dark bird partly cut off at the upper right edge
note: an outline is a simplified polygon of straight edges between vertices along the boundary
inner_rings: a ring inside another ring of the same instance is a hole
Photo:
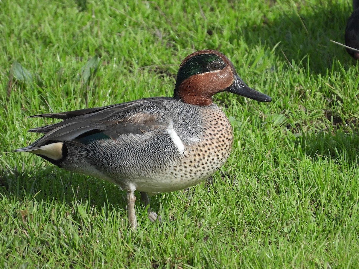
[[[351,13],[345,28],[345,45],[359,49],[359,0],[353,0],[353,13]],[[346,48],[354,59],[359,60],[359,52]]]

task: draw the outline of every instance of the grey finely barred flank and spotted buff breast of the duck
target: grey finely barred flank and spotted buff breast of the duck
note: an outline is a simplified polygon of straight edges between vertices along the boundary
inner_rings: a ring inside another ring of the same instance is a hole
[[[159,128],[120,135],[116,140],[94,140],[85,146],[67,143],[69,155],[62,166],[124,189],[135,184],[137,190],[149,193],[183,189],[208,178],[223,165],[232,147],[228,119],[214,104],[200,107],[174,99],[161,101],[156,112],[163,124]],[[183,153],[168,134],[169,119],[185,146]]]

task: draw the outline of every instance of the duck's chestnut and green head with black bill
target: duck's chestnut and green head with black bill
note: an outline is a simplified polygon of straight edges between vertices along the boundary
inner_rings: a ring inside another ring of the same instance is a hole
[[[174,98],[193,105],[210,105],[212,96],[222,91],[239,94],[259,102],[271,98],[249,88],[237,75],[233,64],[222,53],[205,49],[188,55],[177,73]]]

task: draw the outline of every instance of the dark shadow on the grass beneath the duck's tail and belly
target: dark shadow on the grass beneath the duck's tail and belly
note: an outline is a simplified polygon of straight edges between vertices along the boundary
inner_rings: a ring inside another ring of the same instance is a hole
[[[24,201],[34,199],[51,202],[64,201],[71,207],[73,204],[88,200],[90,206],[101,211],[106,207],[106,212],[112,211],[114,207],[123,209],[126,214],[126,192],[117,185],[107,181],[91,178],[60,169],[48,164],[45,168],[36,169],[31,165],[23,164],[21,169],[15,167],[10,170],[0,170],[0,193],[9,198]],[[136,192],[136,212],[144,210],[139,192]],[[150,197],[151,208],[157,212],[160,200],[154,196]]]

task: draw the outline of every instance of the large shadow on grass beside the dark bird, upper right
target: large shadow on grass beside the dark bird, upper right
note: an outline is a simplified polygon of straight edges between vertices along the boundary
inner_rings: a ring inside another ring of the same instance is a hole
[[[351,4],[321,2],[314,5],[302,1],[293,7],[292,13],[283,11],[281,16],[274,19],[262,17],[259,25],[238,28],[233,39],[243,36],[249,47],[262,44],[270,50],[280,42],[274,51],[278,57],[286,61],[288,66],[292,61],[297,64],[301,62],[314,74],[325,74],[337,60],[347,68],[355,61],[344,47],[332,43],[330,39],[344,43]],[[306,11],[302,11],[304,5],[308,5]]]

